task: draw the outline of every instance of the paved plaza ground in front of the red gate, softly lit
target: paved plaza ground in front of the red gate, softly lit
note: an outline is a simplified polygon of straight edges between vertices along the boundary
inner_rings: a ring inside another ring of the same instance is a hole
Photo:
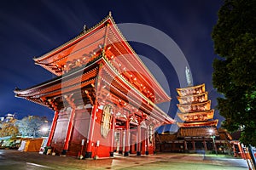
[[[0,150],[0,169],[147,169],[147,170],[238,170],[248,169],[247,161],[231,156],[157,153],[154,156],[119,156],[98,160],[46,156],[38,152]]]

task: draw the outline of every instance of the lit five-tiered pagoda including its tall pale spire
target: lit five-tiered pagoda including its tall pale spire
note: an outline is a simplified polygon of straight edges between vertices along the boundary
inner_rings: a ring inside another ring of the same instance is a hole
[[[213,120],[214,110],[208,99],[205,84],[193,86],[190,71],[186,67],[187,88],[177,88],[177,116],[183,122],[177,122],[177,138],[184,139],[185,150],[205,150],[212,148],[212,135],[218,135],[218,119]],[[209,130],[211,129],[211,134]],[[209,144],[207,144],[207,141]],[[214,145],[214,144],[213,144]],[[213,146],[215,147],[215,145]]]

